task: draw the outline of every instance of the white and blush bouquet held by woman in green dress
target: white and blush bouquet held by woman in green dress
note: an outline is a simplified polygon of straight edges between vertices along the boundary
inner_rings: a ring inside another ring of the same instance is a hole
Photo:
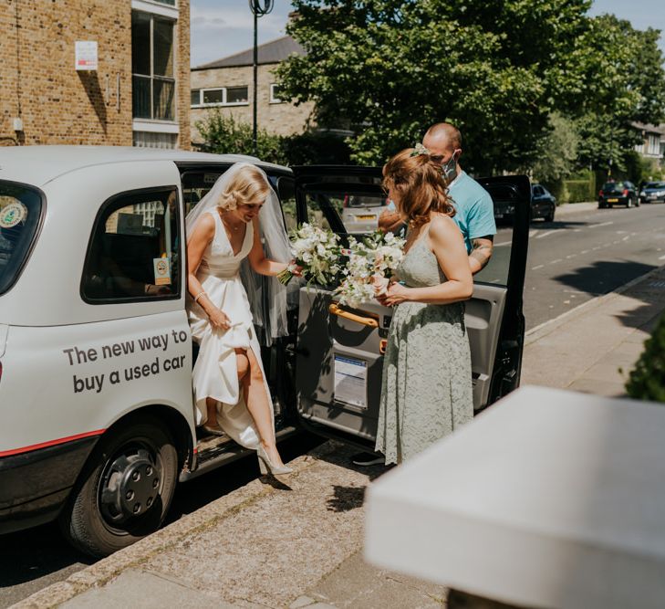
[[[404,257],[405,239],[392,233],[376,231],[357,241],[348,237],[348,265],[342,270],[344,278],[335,294],[340,304],[358,307],[361,302],[384,294],[390,278]]]

